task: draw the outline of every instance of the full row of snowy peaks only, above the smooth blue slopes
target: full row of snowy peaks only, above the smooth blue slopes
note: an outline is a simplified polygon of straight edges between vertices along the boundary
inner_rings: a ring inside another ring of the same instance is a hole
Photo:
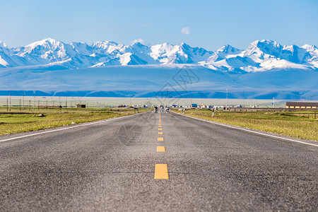
[[[148,47],[101,41],[66,44],[51,38],[25,47],[8,48],[0,41],[0,68],[49,65],[64,69],[95,66],[148,64],[193,64],[216,71],[244,73],[271,69],[318,69],[318,48],[313,45],[283,46],[271,40],[257,40],[247,49],[225,45],[215,52],[201,47],[164,43]]]

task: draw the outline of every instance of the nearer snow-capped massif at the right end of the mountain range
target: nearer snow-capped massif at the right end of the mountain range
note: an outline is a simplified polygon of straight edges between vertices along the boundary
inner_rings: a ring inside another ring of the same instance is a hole
[[[257,40],[245,50],[222,47],[201,65],[209,69],[249,72],[271,69],[318,69],[318,49],[313,45],[283,46],[271,40]]]

